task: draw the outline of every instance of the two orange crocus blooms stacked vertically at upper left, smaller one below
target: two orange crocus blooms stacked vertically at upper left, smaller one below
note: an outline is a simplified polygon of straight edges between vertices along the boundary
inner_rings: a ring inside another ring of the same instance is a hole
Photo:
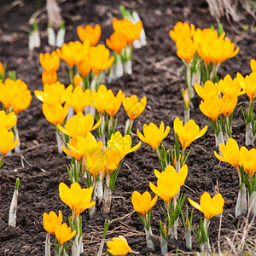
[[[44,68],[42,73],[43,84],[54,84],[57,81],[57,71],[60,67],[61,58],[55,52],[40,54],[40,63]]]

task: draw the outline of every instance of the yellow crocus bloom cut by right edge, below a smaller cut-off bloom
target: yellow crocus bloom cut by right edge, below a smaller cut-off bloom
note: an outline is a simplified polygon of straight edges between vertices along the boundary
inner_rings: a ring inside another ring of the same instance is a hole
[[[237,73],[236,77],[243,92],[247,94],[250,102],[253,102],[253,100],[256,98],[256,73],[250,73],[245,78],[241,75],[241,73]]]

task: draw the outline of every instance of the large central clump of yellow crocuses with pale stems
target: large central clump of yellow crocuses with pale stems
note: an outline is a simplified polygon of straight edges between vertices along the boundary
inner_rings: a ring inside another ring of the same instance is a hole
[[[101,122],[102,119],[99,119],[95,124],[90,113],[84,116],[83,113],[79,112],[67,120],[65,127],[58,125],[58,129],[71,137],[69,143],[67,143],[67,147],[70,149],[64,146],[62,148],[66,154],[73,158],[71,166],[67,170],[72,183],[78,182],[81,175],[84,176],[87,186],[93,186],[93,196],[102,200],[102,183],[106,173],[104,203],[107,208],[106,211],[109,211],[110,196],[119,172],[120,162],[126,154],[137,150],[140,143],[132,148],[131,136],[123,137],[117,131],[111,135],[108,140],[108,148],[105,148],[102,141],[97,142],[96,138],[90,133],[101,125]]]

